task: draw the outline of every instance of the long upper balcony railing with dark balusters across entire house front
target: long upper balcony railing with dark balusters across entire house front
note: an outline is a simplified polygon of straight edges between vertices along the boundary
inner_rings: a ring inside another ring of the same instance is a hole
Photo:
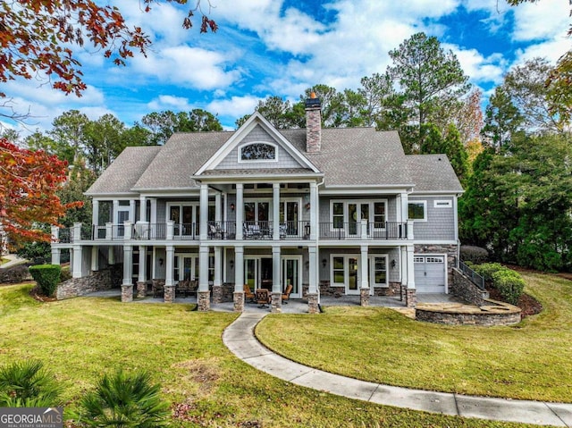
[[[242,222],[237,233],[237,222],[207,222],[206,239],[280,240],[310,239],[310,222],[282,222],[274,231],[273,222]],[[413,239],[412,228],[407,222],[319,222],[316,237],[331,240],[407,240]],[[199,241],[199,223],[106,223],[105,226],[76,223],[68,229],[53,228],[52,242],[71,244],[86,241]]]

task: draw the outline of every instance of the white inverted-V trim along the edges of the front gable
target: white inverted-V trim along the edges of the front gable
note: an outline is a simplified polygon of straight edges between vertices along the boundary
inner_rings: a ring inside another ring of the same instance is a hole
[[[284,150],[286,150],[294,159],[299,162],[300,165],[302,165],[302,167],[305,167],[316,173],[320,172],[320,170],[318,170],[318,168],[316,168],[315,165],[312,164],[305,155],[300,153],[299,150],[294,147],[288,139],[284,138],[284,136],[282,136],[282,134],[273,127],[272,123],[268,122],[262,114],[255,112],[248,118],[248,121],[244,122],[244,124],[238,130],[236,130],[236,132],[234,132],[232,137],[229,138],[226,143],[224,143],[223,146],[220,147],[216,153],[214,153],[214,155],[198,169],[197,172],[195,172],[194,176],[198,177],[203,172],[214,170],[218,164],[223,162],[223,159],[226,156],[231,154],[231,151],[235,147],[241,145],[242,139],[246,138],[250,131],[254,130],[257,125],[261,126],[274,139],[274,141],[281,145]]]

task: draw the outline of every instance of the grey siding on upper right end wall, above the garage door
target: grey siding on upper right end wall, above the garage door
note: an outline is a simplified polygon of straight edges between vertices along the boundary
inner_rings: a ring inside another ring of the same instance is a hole
[[[450,200],[450,207],[434,207],[435,200]],[[414,222],[416,240],[454,240],[455,215],[452,197],[409,197],[409,202],[426,201],[427,221]]]

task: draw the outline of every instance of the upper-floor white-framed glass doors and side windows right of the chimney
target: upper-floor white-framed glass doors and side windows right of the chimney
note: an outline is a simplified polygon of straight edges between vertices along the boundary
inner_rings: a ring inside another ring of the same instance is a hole
[[[387,221],[387,200],[332,200],[330,213],[333,229],[342,229],[344,223],[356,224],[362,220],[373,222],[374,229],[384,229]]]

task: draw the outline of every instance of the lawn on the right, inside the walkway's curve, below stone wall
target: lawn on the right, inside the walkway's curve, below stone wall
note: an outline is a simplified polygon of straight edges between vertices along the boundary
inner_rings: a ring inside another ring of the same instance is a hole
[[[332,373],[391,385],[572,402],[572,281],[523,273],[540,315],[512,327],[418,323],[387,308],[332,306],[267,316],[269,348]]]

